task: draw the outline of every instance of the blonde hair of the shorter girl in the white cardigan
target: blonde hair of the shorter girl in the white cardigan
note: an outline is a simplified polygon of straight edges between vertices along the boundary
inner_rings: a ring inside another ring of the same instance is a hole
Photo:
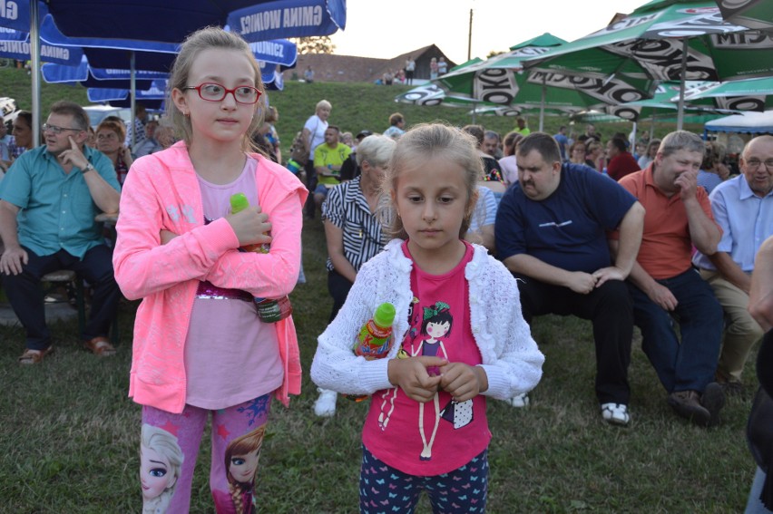
[[[473,136],[444,123],[421,123],[403,134],[396,143],[380,189],[377,218],[383,227],[382,231],[389,238],[408,237],[403,220],[397,216],[396,206],[392,201],[392,195],[397,190],[397,179],[402,170],[415,164],[417,160],[440,158],[455,162],[465,170],[467,203],[465,218],[459,229],[459,238],[464,238],[475,209],[477,181],[484,172],[483,161],[478,155]]]

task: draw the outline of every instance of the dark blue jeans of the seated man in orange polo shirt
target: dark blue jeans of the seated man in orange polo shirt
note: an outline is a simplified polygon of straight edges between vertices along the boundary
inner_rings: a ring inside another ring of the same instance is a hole
[[[678,305],[666,311],[629,282],[633,322],[641,329],[641,349],[668,393],[702,393],[714,381],[722,337],[722,307],[697,271],[657,281],[666,286]],[[674,323],[680,325],[677,337]],[[680,342],[681,339],[681,342]]]

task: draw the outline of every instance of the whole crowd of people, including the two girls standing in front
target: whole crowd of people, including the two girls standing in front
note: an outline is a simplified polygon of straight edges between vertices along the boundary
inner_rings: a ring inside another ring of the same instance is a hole
[[[523,118],[504,137],[411,127],[399,112],[382,133],[345,131],[321,100],[285,167],[250,48],[217,28],[181,45],[170,92],[161,124],[138,111],[130,138],[106,119],[96,148],[71,102],[51,107],[38,148],[25,113],[14,141],[0,137],[0,273],[26,334],[19,362],[54,352],[40,293],[49,271],[93,286],[81,337],[98,356],[115,353],[120,296],[142,299],[129,394],[142,405],[144,512],[187,511],[209,419],[215,507],[254,511],[271,397],[288,404],[300,389],[288,295],[304,218],[318,214],[332,309],[310,369],[314,412],[334,416],[339,393],[373,396],[362,512],[412,511],[422,491],[435,511],[485,509],[486,398],[530,404],[545,358],[535,316],[591,321],[603,422],[631,424],[634,326],[677,415],[716,426],[726,395],[747,387],[770,326],[758,266],[773,240],[773,136],[751,139],[732,175],[721,148],[688,131],[634,152],[624,134],[552,136]],[[239,194],[248,207],[236,208]],[[119,207],[113,249],[95,217]],[[367,354],[383,304],[393,336]]]

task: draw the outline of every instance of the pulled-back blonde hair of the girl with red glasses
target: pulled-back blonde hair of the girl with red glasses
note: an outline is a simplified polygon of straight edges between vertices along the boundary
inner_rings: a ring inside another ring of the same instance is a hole
[[[220,27],[202,28],[189,35],[182,43],[180,53],[178,53],[177,58],[174,60],[174,64],[171,66],[169,97],[167,98],[171,124],[174,126],[175,131],[181,135],[182,139],[189,146],[191,145],[191,137],[193,135],[191,120],[185,116],[171,100],[171,92],[175,89],[183,91],[183,88],[191,85],[188,83],[188,79],[191,74],[191,66],[196,60],[196,57],[202,51],[211,49],[233,50],[244,53],[244,55],[249,58],[250,65],[255,73],[254,86],[258,88],[259,92],[264,92],[258,63],[255,61],[255,57],[250,51],[250,46],[240,35],[226,32]],[[244,134],[244,139],[242,141],[243,150],[257,151],[257,147],[252,142],[252,136],[263,124],[263,112],[265,112],[265,107],[265,95],[261,94],[258,101],[258,109],[256,110],[255,115],[252,116],[250,126]]]

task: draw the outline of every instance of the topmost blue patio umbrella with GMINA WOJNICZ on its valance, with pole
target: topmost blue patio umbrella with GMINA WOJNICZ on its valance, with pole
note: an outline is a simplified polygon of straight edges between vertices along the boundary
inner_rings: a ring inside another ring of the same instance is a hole
[[[3,5],[0,26],[31,34],[35,70],[40,65],[39,23],[46,13],[68,37],[168,44],[180,44],[188,34],[210,25],[230,25],[248,41],[327,35],[346,26],[346,0],[18,0]],[[82,42],[82,46],[88,44]],[[131,59],[130,67],[135,68],[134,57]],[[40,81],[35,74],[35,112],[40,112],[39,103]],[[39,132],[36,120],[34,117],[34,141]]]

